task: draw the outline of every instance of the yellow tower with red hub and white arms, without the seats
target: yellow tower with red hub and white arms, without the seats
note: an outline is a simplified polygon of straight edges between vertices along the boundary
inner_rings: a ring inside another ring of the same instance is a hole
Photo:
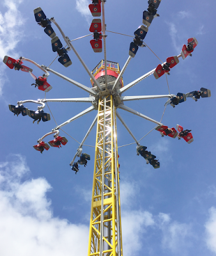
[[[40,104],[38,110],[45,107],[46,102],[89,102],[91,106],[78,115],[73,116],[66,122],[57,127],[54,127],[52,131],[45,134],[38,140],[38,143],[44,140],[46,136],[50,134],[59,134],[59,129],[66,124],[70,124],[77,118],[86,115],[87,113],[97,110],[97,115],[93,120],[93,123],[89,127],[86,136],[82,140],[82,143],[77,148],[77,152],[73,157],[70,165],[72,166],[75,162],[75,158],[81,156],[82,146],[86,138],[88,138],[93,126],[96,124],[96,144],[95,144],[95,167],[93,173],[93,191],[91,201],[91,217],[89,225],[89,246],[88,256],[121,256],[123,255],[122,239],[121,239],[121,207],[120,207],[120,184],[119,184],[119,172],[118,172],[118,143],[117,143],[117,132],[116,132],[116,116],[120,122],[125,126],[125,129],[132,136],[133,140],[139,147],[139,141],[135,138],[132,131],[128,128],[127,124],[120,116],[120,113],[116,111],[117,108],[128,111],[134,115],[137,115],[145,120],[153,122],[156,127],[162,125],[161,121],[153,120],[149,116],[143,115],[135,111],[134,109],[125,106],[129,100],[144,100],[144,99],[160,99],[168,98],[171,99],[175,95],[170,93],[167,95],[139,95],[139,96],[123,96],[127,90],[132,88],[135,84],[143,81],[146,77],[151,76],[155,72],[155,68],[143,76],[135,79],[131,83],[123,85],[122,76],[125,72],[132,56],[129,56],[124,67],[120,70],[118,63],[107,61],[106,49],[105,49],[105,17],[104,17],[104,3],[102,0],[102,38],[104,40],[104,60],[94,68],[93,72],[89,71],[84,61],[79,56],[78,52],[72,45],[70,39],[65,36],[62,29],[57,24],[54,18],[50,19],[58,27],[61,35],[65,39],[68,45],[67,50],[71,49],[77,55],[79,61],[81,61],[86,72],[89,74],[91,79],[92,87],[81,84],[73,79],[63,76],[58,72],[52,70],[45,65],[39,65],[35,61],[21,57],[22,61],[29,61],[36,65],[36,67],[43,70],[43,77],[48,77],[49,73],[61,77],[65,81],[74,84],[81,88],[85,92],[89,93],[89,97],[81,98],[67,98],[67,99],[40,99],[40,100],[24,100],[19,101],[18,106],[26,102],[35,102]],[[177,56],[179,59],[181,55]],[[29,71],[31,74],[31,71]],[[113,74],[116,74],[112,76]],[[97,78],[96,78],[97,77]]]

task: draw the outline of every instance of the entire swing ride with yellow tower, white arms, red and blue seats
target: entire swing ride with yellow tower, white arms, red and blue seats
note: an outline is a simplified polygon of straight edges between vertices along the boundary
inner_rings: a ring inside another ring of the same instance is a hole
[[[194,51],[194,48],[198,44],[196,38],[189,38],[187,40],[187,44],[183,45],[181,53],[178,56],[171,56],[167,58],[165,62],[161,61],[161,64],[150,72],[135,79],[135,81],[132,81],[131,83],[126,85],[123,84],[122,77],[130,63],[130,60],[135,57],[135,54],[140,47],[148,47],[143,40],[148,33],[151,22],[155,17],[159,16],[157,9],[160,2],[161,0],[148,0],[148,8],[143,12],[143,24],[134,32],[134,39],[130,43],[129,47],[129,56],[122,69],[120,69],[118,63],[107,60],[104,15],[105,0],[93,0],[92,3],[89,4],[89,10],[94,17],[89,28],[91,35],[93,35],[93,40],[90,41],[90,44],[94,52],[102,52],[104,49],[104,60],[100,61],[92,71],[90,71],[86,66],[81,56],[79,56],[78,52],[73,47],[72,40],[70,40],[68,36],[65,36],[65,33],[63,33],[56,20],[54,18],[48,19],[40,7],[34,10],[36,22],[44,28],[45,33],[51,38],[52,51],[58,53],[59,63],[64,65],[66,68],[70,67],[70,65],[72,65],[72,61],[70,60],[68,52],[73,50],[90,77],[91,87],[74,81],[69,77],[59,74],[51,68],[46,67],[45,65],[39,65],[35,61],[24,57],[20,57],[19,60],[15,60],[9,56],[5,56],[3,60],[9,68],[28,72],[33,79],[35,79],[35,87],[38,87],[38,89],[43,92],[48,93],[52,89],[52,86],[47,82],[49,73],[52,73],[89,93],[89,97],[22,100],[17,102],[17,106],[9,105],[9,109],[14,113],[14,115],[28,115],[33,118],[33,122],[40,122],[41,120],[43,122],[47,122],[50,120],[50,114],[43,111],[47,102],[89,102],[91,104],[89,108],[85,109],[78,115],[73,116],[66,122],[63,122],[63,124],[54,127],[52,131],[42,136],[42,138],[38,140],[38,143],[33,146],[35,150],[42,153],[44,150],[49,150],[50,147],[59,148],[61,145],[66,145],[68,140],[63,136],[59,136],[59,130],[61,127],[66,124],[70,124],[70,122],[73,122],[77,118],[84,116],[91,111],[97,111],[86,136],[84,136],[82,142],[77,148],[77,152],[75,152],[75,156],[70,162],[70,166],[75,173],[79,172],[79,165],[86,166],[87,161],[90,160],[90,156],[82,152],[82,146],[94,125],[96,125],[95,163],[93,172],[91,217],[89,224],[88,256],[123,255],[116,117],[120,120],[135,141],[137,145],[137,154],[142,156],[146,163],[151,164],[153,168],[160,167],[160,162],[156,159],[157,157],[151,154],[151,152],[147,150],[147,147],[139,143],[140,140],[138,141],[135,138],[134,134],[130,131],[117,109],[123,109],[129,113],[144,118],[145,120],[153,122],[156,125],[153,129],[159,131],[162,136],[169,136],[171,138],[177,137],[178,139],[183,138],[187,143],[192,143],[194,138],[190,130],[184,130],[181,125],[176,125],[176,129],[174,127],[169,128],[162,124],[162,119],[160,121],[154,120],[132,108],[128,108],[125,104],[130,100],[167,98],[165,107],[169,104],[175,107],[176,105],[184,102],[188,97],[197,100],[200,97],[204,98],[211,96],[210,90],[206,88],[201,88],[199,91],[193,91],[186,94],[177,93],[177,95],[171,94],[170,92],[167,95],[123,95],[128,89],[132,88],[132,86],[143,81],[143,79],[146,79],[146,77],[151,76],[152,74],[155,79],[159,79],[163,75],[169,75],[171,68],[179,63],[180,58],[184,60],[187,56],[191,56],[191,52]],[[102,20],[98,18],[101,16],[101,13]],[[61,36],[66,42],[66,47],[63,47],[61,40],[56,36],[56,33],[52,28],[52,23],[59,29]],[[36,67],[43,71],[43,75],[36,77],[31,68],[23,65],[23,61],[28,61],[33,65],[36,65]],[[39,104],[40,106],[38,106],[38,110],[32,111],[24,107],[24,104],[29,102]],[[50,140],[49,144],[47,144],[45,143],[45,138],[50,134],[54,134],[54,140]],[[79,157],[78,161],[75,161],[76,157]]]

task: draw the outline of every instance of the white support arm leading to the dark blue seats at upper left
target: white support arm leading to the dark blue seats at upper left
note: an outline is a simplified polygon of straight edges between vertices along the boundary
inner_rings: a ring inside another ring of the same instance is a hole
[[[73,50],[73,52],[77,55],[77,58],[79,59],[79,61],[81,61],[82,66],[85,68],[86,72],[89,74],[89,76],[91,77],[91,79],[94,81],[94,83],[96,84],[96,87],[98,88],[98,90],[102,91],[102,87],[100,86],[100,84],[98,83],[98,81],[96,81],[95,77],[93,76],[93,74],[91,73],[91,71],[89,70],[89,68],[86,66],[86,64],[84,63],[84,61],[82,60],[81,56],[79,56],[78,52],[75,50],[75,48],[73,47],[72,43],[70,42],[70,39],[68,38],[68,36],[65,36],[65,33],[63,33],[63,31],[61,30],[61,28],[59,27],[58,23],[56,22],[56,20],[54,18],[50,19],[55,25],[56,27],[59,29],[61,35],[63,36],[66,44],[68,45],[69,49],[67,49],[67,51],[70,51],[70,48]]]

